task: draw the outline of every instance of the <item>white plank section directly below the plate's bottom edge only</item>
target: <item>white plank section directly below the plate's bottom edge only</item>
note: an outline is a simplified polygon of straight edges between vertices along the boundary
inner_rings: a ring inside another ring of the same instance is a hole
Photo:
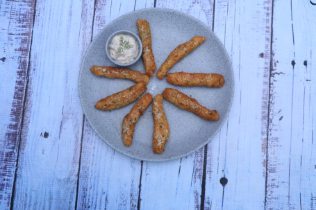
[[[144,162],[140,209],[200,209],[202,172],[203,149],[163,164]]]

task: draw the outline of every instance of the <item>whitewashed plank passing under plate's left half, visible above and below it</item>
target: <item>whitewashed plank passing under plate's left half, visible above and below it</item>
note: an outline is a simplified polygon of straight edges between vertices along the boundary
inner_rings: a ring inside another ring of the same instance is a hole
[[[97,1],[93,37],[126,12],[152,6],[153,1]],[[78,209],[138,209],[141,173],[141,161],[115,152],[85,121]]]

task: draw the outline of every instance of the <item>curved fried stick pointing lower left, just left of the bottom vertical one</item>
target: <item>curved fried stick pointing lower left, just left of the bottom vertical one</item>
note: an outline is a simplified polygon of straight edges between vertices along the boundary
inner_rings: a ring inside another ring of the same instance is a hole
[[[122,139],[125,146],[131,146],[135,125],[140,116],[142,116],[142,113],[144,113],[144,111],[147,109],[151,101],[153,101],[153,97],[151,96],[151,94],[144,94],[144,96],[142,96],[142,98],[138,100],[138,103],[135,103],[135,105],[132,107],[131,112],[129,112],[129,114],[126,114],[126,116],[124,117],[122,126]]]

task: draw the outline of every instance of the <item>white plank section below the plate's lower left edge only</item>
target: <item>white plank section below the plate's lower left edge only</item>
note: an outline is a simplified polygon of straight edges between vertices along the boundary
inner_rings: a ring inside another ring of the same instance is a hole
[[[85,121],[78,209],[137,209],[141,163],[104,143]]]

